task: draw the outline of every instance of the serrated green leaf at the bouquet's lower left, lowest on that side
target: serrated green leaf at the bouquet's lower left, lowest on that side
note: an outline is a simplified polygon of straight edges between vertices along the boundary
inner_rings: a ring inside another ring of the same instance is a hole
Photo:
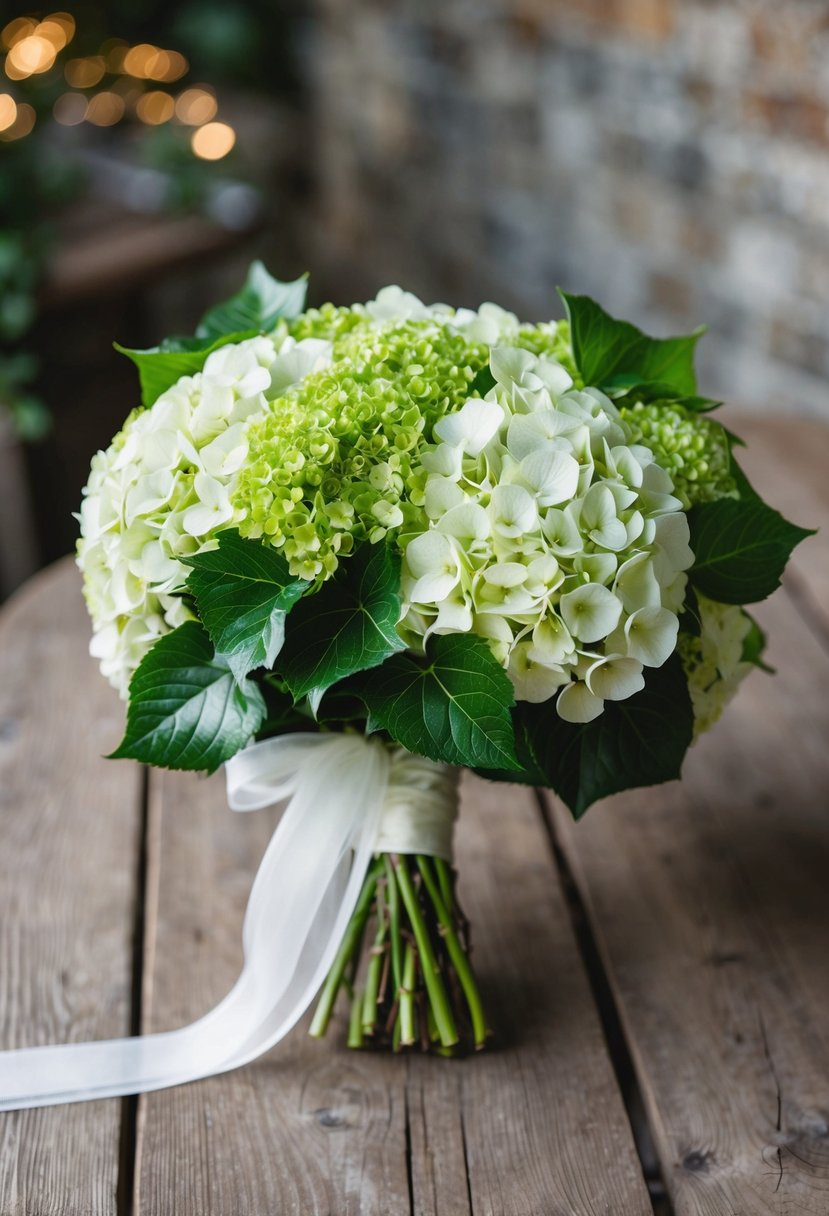
[[[214,772],[241,751],[264,716],[255,683],[238,685],[205,630],[188,620],[141,660],[130,681],[126,732],[109,759]]]

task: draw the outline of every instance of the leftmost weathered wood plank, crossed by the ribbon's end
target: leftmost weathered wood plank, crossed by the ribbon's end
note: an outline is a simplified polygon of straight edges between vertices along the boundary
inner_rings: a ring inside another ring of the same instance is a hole
[[[137,767],[71,563],[0,614],[0,1047],[129,1034]],[[122,1104],[0,1115],[4,1216],[114,1214]]]

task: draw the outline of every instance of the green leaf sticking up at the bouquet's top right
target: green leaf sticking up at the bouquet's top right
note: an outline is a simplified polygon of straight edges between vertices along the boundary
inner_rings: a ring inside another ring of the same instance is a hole
[[[694,396],[694,348],[705,332],[649,338],[628,321],[617,321],[588,295],[559,291],[570,322],[573,355],[585,384],[611,385],[620,377],[658,381]]]

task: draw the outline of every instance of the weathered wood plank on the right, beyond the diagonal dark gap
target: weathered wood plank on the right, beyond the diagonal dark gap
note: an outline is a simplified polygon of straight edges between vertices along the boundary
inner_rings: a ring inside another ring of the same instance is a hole
[[[785,591],[757,615],[779,674],[682,786],[554,814],[676,1216],[829,1211],[829,655]]]

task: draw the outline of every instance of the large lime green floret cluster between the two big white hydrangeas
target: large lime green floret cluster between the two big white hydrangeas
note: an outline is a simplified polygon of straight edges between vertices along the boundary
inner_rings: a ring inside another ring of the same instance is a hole
[[[489,348],[434,321],[354,332],[344,321],[333,365],[250,426],[233,491],[242,534],[280,547],[293,574],[325,579],[359,541],[417,520],[417,449],[474,395],[472,381],[487,361]]]

